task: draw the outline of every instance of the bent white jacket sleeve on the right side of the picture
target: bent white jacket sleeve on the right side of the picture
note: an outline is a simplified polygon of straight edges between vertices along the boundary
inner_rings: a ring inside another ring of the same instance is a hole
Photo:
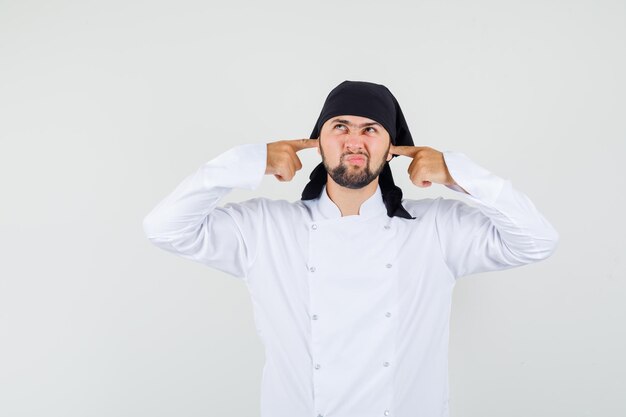
[[[537,262],[555,251],[559,235],[528,196],[463,153],[443,154],[450,175],[467,193],[447,187],[476,205],[438,199],[437,233],[455,278]]]

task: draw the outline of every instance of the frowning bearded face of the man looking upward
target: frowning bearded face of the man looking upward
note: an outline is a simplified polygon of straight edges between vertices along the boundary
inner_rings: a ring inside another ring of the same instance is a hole
[[[318,152],[330,177],[346,188],[363,188],[391,160],[389,133],[375,120],[343,115],[322,126]]]

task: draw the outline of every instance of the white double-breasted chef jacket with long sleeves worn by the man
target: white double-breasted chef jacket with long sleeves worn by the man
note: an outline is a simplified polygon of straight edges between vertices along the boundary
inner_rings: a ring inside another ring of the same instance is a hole
[[[545,259],[558,234],[510,181],[459,152],[444,159],[477,204],[404,199],[389,217],[380,187],[341,216],[315,200],[253,198],[265,143],[204,163],[144,219],[156,246],[240,278],[265,346],[262,417],[447,417],[448,333],[459,277]]]

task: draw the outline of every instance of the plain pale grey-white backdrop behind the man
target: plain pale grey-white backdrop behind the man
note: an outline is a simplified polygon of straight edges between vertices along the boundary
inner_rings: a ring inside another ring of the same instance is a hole
[[[458,282],[451,416],[626,415],[626,3],[245,3],[0,0],[0,415],[258,415],[245,285],[142,220],[234,145],[309,137],[344,80],[386,85],[416,145],[510,179],[561,236]],[[224,202],[297,200],[301,155]],[[405,198],[462,198],[408,164]]]

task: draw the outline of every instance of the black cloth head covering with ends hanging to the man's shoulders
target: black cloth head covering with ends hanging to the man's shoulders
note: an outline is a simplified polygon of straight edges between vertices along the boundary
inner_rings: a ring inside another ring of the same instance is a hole
[[[348,80],[339,84],[326,97],[310,139],[319,138],[322,126],[328,119],[344,114],[375,120],[387,130],[393,145],[413,146],[413,138],[400,109],[400,104],[384,85]],[[393,155],[393,157],[396,156]],[[320,196],[328,179],[324,163],[315,167],[309,178],[311,181],[302,191],[302,200],[312,200]],[[402,190],[393,182],[389,162],[385,162],[385,166],[378,177],[378,184],[389,217],[415,218],[402,207]]]

